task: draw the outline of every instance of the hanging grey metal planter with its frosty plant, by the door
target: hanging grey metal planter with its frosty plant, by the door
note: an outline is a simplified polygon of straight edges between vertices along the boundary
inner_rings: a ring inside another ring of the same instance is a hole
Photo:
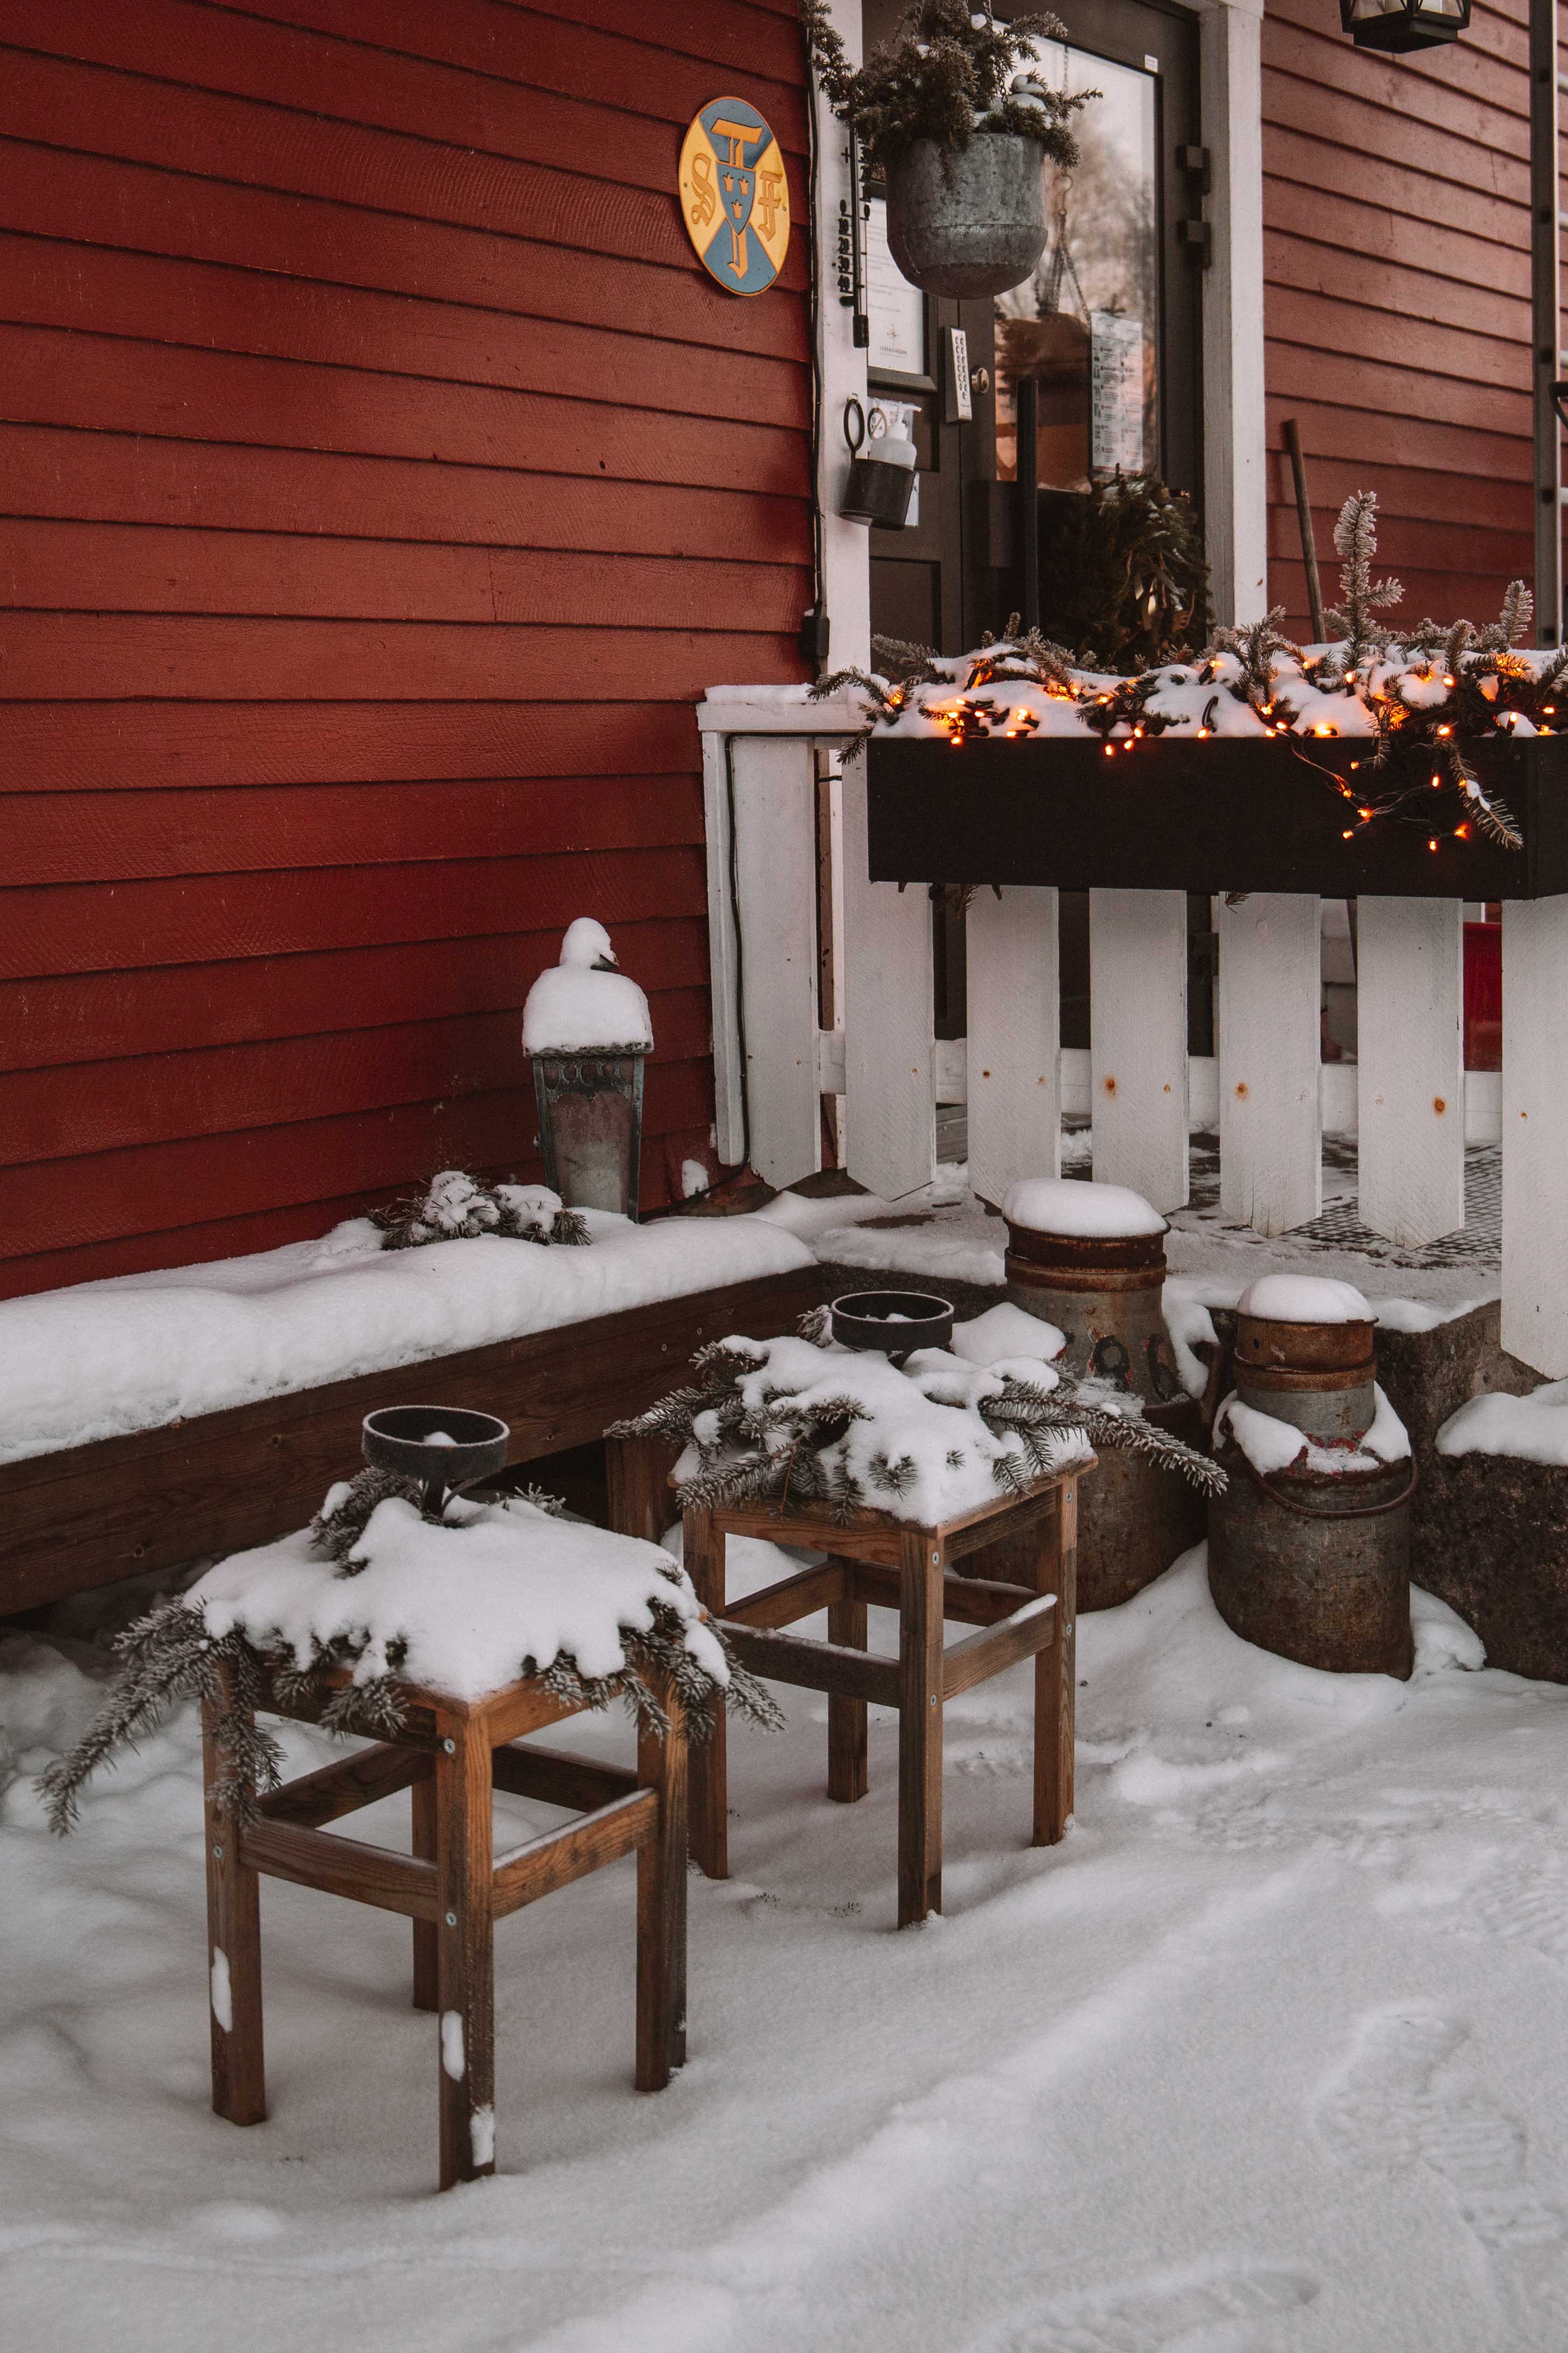
[[[1077,165],[1067,125],[1098,96],[1039,78],[1034,42],[1067,28],[919,0],[851,71],[827,0],[802,0],[802,24],[827,104],[884,176],[889,247],[910,285],[954,296],[1023,285],[1046,245],[1041,162]]]

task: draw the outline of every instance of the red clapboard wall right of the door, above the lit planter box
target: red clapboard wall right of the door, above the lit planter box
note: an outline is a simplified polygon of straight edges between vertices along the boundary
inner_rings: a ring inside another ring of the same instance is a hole
[[[1307,631],[1298,416],[1326,600],[1335,513],[1375,489],[1389,619],[1490,621],[1535,572],[1526,0],[1408,59],[1354,49],[1338,0],[1269,0],[1262,66],[1269,602]]]

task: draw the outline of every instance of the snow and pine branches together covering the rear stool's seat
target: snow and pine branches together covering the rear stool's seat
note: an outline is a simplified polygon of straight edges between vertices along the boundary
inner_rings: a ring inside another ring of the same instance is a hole
[[[886,1511],[936,1525],[1032,1480],[1121,1447],[1218,1494],[1206,1454],[1145,1421],[1133,1400],[1098,1395],[1032,1358],[976,1367],[917,1348],[884,1355],[823,1346],[825,1308],[795,1339],[722,1339],[693,1358],[698,1379],[616,1438],[684,1438],[675,1466],[684,1511],[743,1501],[830,1504],[835,1518]]]

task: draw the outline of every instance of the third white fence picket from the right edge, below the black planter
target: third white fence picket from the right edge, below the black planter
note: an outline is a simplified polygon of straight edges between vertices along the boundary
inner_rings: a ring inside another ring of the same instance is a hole
[[[1215,901],[1220,1209],[1258,1233],[1324,1207],[1319,920],[1309,896]]]

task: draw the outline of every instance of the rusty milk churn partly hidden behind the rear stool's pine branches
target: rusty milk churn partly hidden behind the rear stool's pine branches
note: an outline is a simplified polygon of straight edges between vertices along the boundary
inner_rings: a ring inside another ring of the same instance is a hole
[[[1025,1176],[1006,1202],[1006,1294],[1056,1325],[1063,1367],[1138,1398],[1159,1428],[1204,1445],[1161,1313],[1166,1221],[1140,1193]],[[1204,1539],[1204,1497],[1133,1454],[1103,1454],[1079,1492],[1079,1609],[1114,1609]]]

